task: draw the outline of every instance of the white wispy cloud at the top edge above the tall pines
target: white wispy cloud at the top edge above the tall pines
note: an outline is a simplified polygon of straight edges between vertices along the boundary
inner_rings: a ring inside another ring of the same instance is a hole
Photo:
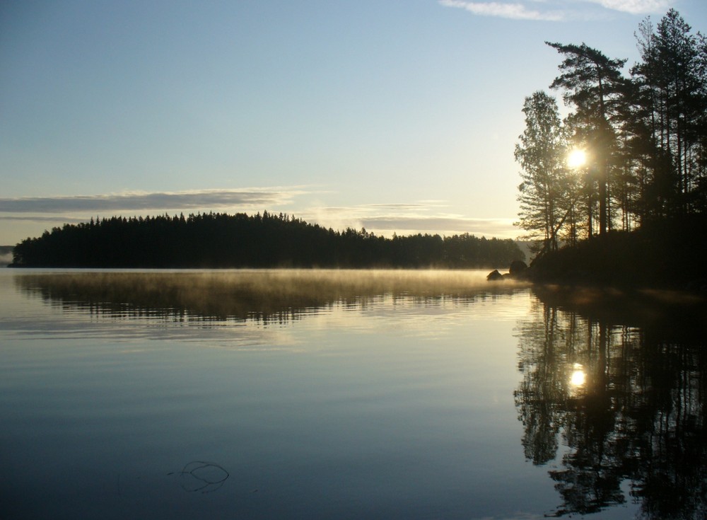
[[[479,16],[496,16],[513,20],[568,21],[594,18],[586,8],[592,4],[607,10],[631,14],[665,12],[676,0],[520,0],[520,1],[467,1],[439,0],[445,7],[455,7]],[[583,7],[584,4],[584,7]]]

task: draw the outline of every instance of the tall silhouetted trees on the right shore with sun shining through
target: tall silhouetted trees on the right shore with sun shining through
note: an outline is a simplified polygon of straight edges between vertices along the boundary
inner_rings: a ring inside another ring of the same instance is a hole
[[[517,225],[540,257],[597,237],[585,253],[607,255],[612,233],[648,244],[645,254],[677,233],[697,246],[692,258],[704,253],[707,41],[674,9],[658,23],[645,18],[635,36],[641,59],[632,67],[584,43],[546,42],[561,57],[549,88],[570,112],[561,119],[545,91],[528,96],[515,146]]]

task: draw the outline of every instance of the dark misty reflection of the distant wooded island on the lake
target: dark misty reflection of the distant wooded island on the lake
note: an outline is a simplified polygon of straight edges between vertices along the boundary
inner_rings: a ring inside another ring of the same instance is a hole
[[[477,271],[239,270],[231,272],[59,272],[14,278],[66,311],[101,318],[170,322],[288,323],[334,305],[365,310],[385,297],[393,304],[479,301],[510,294],[518,284],[489,290]]]

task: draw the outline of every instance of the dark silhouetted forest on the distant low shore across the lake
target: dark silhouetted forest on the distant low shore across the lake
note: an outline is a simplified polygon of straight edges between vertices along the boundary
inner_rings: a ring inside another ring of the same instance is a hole
[[[464,233],[385,238],[334,231],[286,214],[112,216],[27,238],[13,267],[505,267],[524,260],[508,239]]]

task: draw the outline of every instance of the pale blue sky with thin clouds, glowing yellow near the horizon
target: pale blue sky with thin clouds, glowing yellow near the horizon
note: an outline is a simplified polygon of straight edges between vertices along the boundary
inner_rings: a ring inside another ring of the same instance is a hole
[[[113,215],[516,238],[526,96],[704,0],[4,0],[0,245]],[[566,110],[562,108],[562,110]]]

